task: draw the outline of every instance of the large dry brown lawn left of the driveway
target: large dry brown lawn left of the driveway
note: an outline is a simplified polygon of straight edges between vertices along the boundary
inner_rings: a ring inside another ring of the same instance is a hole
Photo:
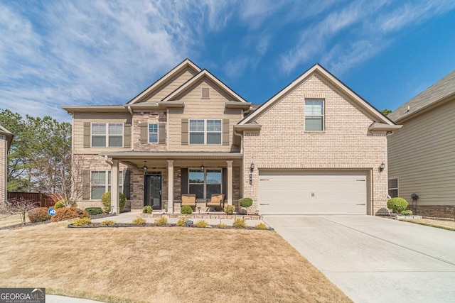
[[[274,231],[0,231],[0,287],[107,302],[350,302]]]

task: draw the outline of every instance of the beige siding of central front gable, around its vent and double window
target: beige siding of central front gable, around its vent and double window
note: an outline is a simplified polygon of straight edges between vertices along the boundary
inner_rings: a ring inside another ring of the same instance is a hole
[[[201,98],[201,88],[210,87],[210,99]],[[233,126],[242,119],[241,109],[226,109],[225,102],[231,101],[208,79],[202,79],[177,99],[185,103],[183,109],[170,109],[168,114],[169,151],[230,152],[239,148],[232,146]],[[181,119],[229,119],[229,145],[182,145]]]

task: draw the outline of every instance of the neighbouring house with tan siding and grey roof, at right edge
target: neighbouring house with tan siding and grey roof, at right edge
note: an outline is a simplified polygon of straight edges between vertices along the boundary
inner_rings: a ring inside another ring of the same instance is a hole
[[[455,206],[455,71],[388,115],[403,127],[389,138],[389,194],[417,214],[453,217]]]

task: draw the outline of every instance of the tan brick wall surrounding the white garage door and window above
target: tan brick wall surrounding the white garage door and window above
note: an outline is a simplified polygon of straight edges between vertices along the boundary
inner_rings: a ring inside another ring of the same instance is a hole
[[[304,131],[305,99],[324,99],[325,131]],[[275,104],[257,119],[259,133],[244,133],[243,196],[254,200],[258,208],[259,175],[264,168],[304,170],[367,171],[371,177],[369,201],[373,214],[385,211],[387,205],[387,165],[384,172],[378,167],[387,163],[385,133],[370,133],[373,120],[360,111],[326,82],[314,75]],[[255,163],[252,184],[249,184],[250,163]]]

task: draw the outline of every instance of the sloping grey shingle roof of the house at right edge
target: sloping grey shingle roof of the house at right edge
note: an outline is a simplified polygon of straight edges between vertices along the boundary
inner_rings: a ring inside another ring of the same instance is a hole
[[[401,121],[452,96],[455,96],[455,70],[387,116],[395,122]]]

